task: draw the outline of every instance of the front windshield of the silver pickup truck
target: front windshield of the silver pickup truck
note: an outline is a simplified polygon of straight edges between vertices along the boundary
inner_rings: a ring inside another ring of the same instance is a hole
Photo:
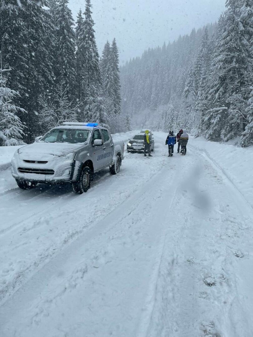
[[[90,131],[83,129],[53,129],[43,136],[40,141],[48,143],[84,143]]]

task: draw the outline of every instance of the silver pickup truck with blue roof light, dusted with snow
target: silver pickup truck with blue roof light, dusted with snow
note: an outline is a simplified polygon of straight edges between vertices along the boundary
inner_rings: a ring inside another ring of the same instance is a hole
[[[71,182],[81,194],[90,188],[95,172],[109,167],[111,174],[117,174],[123,155],[124,142],[113,143],[108,129],[97,123],[64,122],[19,148],[11,172],[22,189]]]

